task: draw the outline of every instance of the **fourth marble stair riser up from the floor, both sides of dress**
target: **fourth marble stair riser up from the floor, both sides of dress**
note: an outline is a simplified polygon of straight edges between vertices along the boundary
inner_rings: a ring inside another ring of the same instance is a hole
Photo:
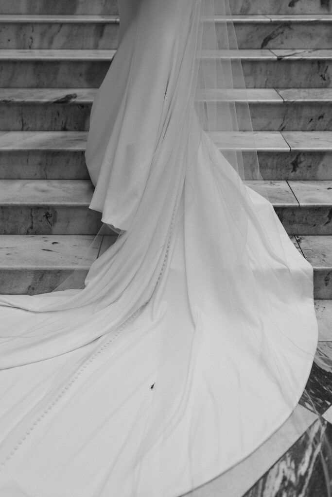
[[[88,131],[91,105],[0,102],[0,131]],[[216,131],[222,131],[222,105],[217,109]],[[236,104],[236,110],[245,131],[243,105]],[[332,131],[332,103],[251,103],[250,114],[255,131]]]

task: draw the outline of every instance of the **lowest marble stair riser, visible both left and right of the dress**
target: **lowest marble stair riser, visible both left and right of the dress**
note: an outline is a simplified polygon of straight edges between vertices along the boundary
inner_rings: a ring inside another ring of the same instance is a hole
[[[71,276],[75,287],[84,284],[87,269],[76,269],[74,277],[72,269],[24,269],[24,270],[1,270],[0,271],[0,293],[1,294],[28,294],[35,295],[54,290],[66,278]],[[332,270],[314,270],[314,297],[316,299],[332,299]]]

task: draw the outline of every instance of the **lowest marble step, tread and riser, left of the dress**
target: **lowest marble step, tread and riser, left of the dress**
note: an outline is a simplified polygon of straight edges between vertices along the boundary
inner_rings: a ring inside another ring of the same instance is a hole
[[[80,287],[92,262],[115,240],[116,236],[0,235],[0,293],[46,293],[69,276],[68,286]]]

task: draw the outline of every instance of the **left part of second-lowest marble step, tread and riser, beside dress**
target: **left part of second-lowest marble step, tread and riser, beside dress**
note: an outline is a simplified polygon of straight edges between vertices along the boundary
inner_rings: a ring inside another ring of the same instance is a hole
[[[0,180],[0,234],[95,235],[90,180]]]

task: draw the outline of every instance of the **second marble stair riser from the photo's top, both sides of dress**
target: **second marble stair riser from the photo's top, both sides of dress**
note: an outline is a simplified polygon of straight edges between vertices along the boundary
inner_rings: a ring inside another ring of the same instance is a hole
[[[332,48],[332,22],[234,21],[239,48]],[[217,23],[222,48],[224,24]],[[315,36],[313,35],[315,33]],[[1,22],[0,47],[5,49],[116,49],[114,22]]]

